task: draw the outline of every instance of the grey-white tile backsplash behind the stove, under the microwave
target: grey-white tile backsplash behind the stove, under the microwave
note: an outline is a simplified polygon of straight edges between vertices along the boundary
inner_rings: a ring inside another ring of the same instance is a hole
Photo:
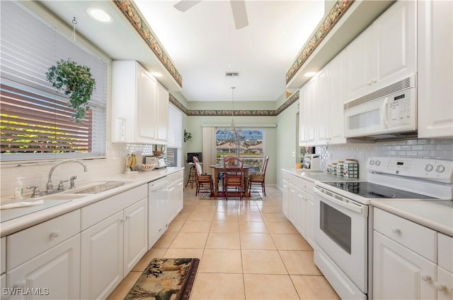
[[[367,179],[366,162],[368,157],[421,157],[453,160],[453,138],[413,139],[382,141],[377,143],[348,143],[316,147],[321,157],[321,169],[328,164],[352,158],[359,162],[360,179]]]

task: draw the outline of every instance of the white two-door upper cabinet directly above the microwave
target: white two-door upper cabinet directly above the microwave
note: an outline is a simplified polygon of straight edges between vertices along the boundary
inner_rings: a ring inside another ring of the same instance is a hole
[[[416,2],[396,1],[346,47],[346,100],[416,72],[416,29]]]

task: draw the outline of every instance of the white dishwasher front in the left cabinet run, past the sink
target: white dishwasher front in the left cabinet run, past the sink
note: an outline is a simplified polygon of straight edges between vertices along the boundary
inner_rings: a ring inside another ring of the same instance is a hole
[[[168,191],[166,177],[148,184],[148,248],[164,234],[168,227]]]

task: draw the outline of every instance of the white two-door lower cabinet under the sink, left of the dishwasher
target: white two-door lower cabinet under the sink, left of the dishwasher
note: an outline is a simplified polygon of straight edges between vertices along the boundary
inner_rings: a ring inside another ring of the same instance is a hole
[[[81,299],[107,298],[147,252],[147,212],[146,184],[81,209]]]

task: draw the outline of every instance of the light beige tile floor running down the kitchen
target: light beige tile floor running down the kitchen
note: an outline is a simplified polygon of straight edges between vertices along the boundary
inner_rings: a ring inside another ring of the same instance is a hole
[[[242,202],[200,200],[185,188],[183,210],[108,299],[124,299],[159,257],[200,258],[191,300],[340,299],[281,208],[271,186],[263,200]]]

